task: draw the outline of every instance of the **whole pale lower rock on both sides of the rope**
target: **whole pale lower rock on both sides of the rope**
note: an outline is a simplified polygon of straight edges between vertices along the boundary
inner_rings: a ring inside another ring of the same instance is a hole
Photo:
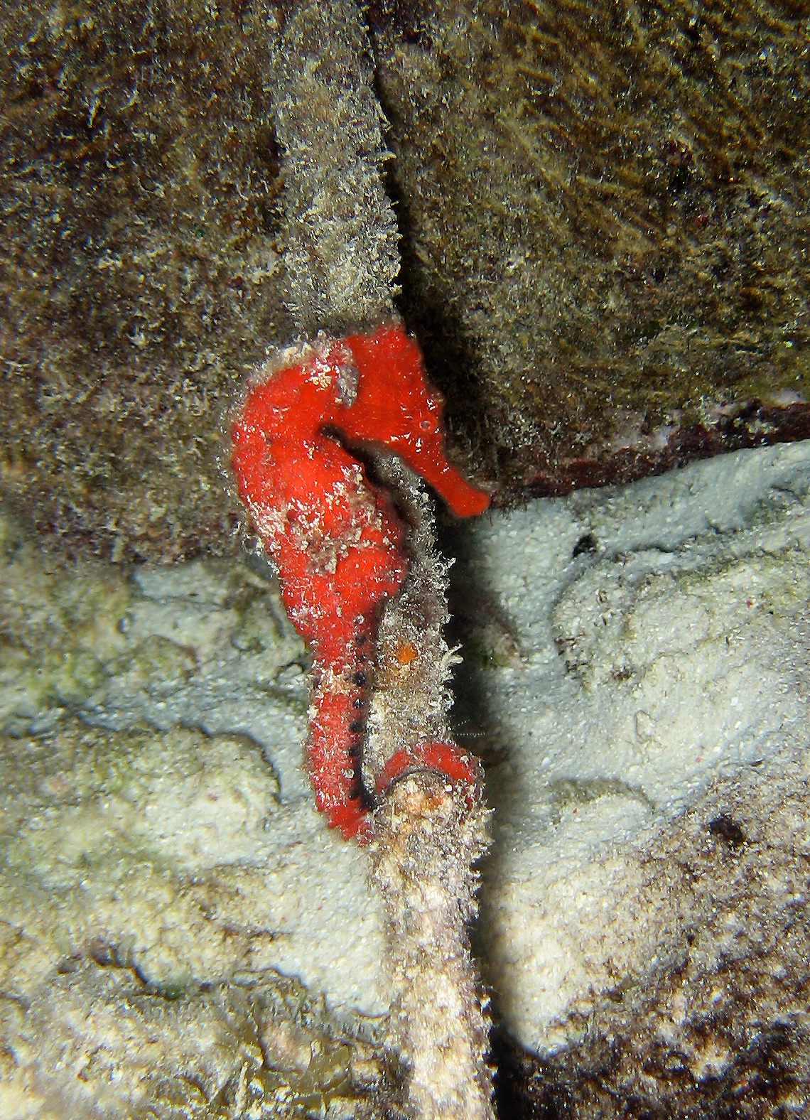
[[[809,494],[797,444],[455,540],[502,1117],[807,1111]],[[397,1117],[381,904],[313,808],[267,568],[3,526],[0,1112]]]

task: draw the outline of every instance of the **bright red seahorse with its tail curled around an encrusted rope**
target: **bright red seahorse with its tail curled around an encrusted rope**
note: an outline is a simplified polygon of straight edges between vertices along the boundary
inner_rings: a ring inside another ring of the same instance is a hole
[[[441,402],[419,347],[399,325],[299,351],[249,392],[232,428],[239,494],[276,561],[287,613],[311,648],[309,766],[316,804],[345,837],[364,829],[371,797],[361,754],[381,605],[407,572],[403,526],[352,446],[395,451],[459,516],[488,497],[443,451]],[[339,436],[344,447],[336,435]],[[448,744],[399,752],[378,782],[408,766],[474,782],[476,764]]]

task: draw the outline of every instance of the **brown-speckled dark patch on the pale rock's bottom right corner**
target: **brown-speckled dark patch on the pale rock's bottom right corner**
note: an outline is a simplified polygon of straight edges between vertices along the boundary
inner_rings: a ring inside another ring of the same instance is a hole
[[[718,783],[622,859],[632,888],[595,934],[612,943],[611,981],[571,1009],[557,1053],[538,1058],[501,1038],[501,1114],[806,1116],[807,735],[793,756]]]

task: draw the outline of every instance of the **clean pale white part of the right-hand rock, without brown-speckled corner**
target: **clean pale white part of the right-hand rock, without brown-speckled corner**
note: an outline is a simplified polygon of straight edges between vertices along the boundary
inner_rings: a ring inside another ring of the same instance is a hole
[[[657,908],[642,936],[622,899],[672,819],[807,746],[809,483],[808,445],[741,452],[471,533],[519,651],[466,683],[506,753],[481,933],[532,1048],[618,982],[606,928],[625,973],[669,951]]]

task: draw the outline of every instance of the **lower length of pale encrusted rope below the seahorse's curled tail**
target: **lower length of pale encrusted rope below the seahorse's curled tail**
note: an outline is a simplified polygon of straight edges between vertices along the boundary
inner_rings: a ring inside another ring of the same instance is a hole
[[[494,1120],[488,1019],[467,925],[476,916],[487,812],[466,788],[425,771],[395,782],[375,816],[373,881],[398,952],[391,1042],[419,1117]]]

